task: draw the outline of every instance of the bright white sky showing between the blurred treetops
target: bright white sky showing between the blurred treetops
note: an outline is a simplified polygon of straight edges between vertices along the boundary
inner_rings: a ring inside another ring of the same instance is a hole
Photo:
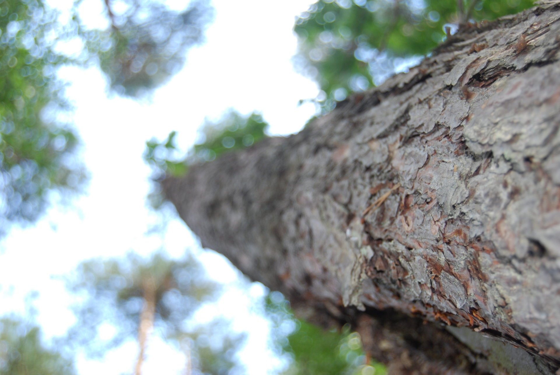
[[[180,0],[173,1],[181,3]],[[249,373],[274,373],[279,360],[266,346],[268,325],[256,302],[265,293],[260,284],[247,288],[224,258],[199,248],[179,220],[164,235],[146,235],[158,216],[146,205],[150,169],[142,161],[145,142],[178,131],[178,143],[191,146],[204,118],[217,119],[228,108],[247,114],[257,110],[273,134],[297,132],[315,114],[312,104],[318,87],[293,71],[291,58],[297,40],[292,33],[295,16],[312,0],[213,0],[216,17],[206,33],[207,42],[189,51],[183,71],[155,91],[150,103],[108,99],[106,81],[94,68],[64,68],[67,90],[76,110],[73,121],[83,141],[82,159],[90,173],[85,195],[72,207],[55,205],[35,226],[14,228],[0,242],[0,314],[21,312],[24,297],[37,290],[38,321],[47,337],[62,335],[73,323],[71,302],[62,283],[53,276],[67,274],[92,257],[122,256],[128,251],[150,254],[163,246],[173,256],[192,248],[217,280],[228,283],[226,297],[207,314],[227,312],[237,330],[248,330],[244,360]],[[71,0],[51,2],[63,9]],[[84,0],[83,11],[92,24],[103,20],[102,0]],[[89,18],[88,18],[89,19]],[[25,265],[25,268],[22,267]],[[151,343],[145,374],[179,373],[184,358]],[[157,355],[150,353],[157,351]],[[263,353],[255,360],[253,353]],[[81,358],[81,374],[119,374],[132,371],[136,343],[129,342],[103,363]],[[157,358],[156,358],[157,357]]]

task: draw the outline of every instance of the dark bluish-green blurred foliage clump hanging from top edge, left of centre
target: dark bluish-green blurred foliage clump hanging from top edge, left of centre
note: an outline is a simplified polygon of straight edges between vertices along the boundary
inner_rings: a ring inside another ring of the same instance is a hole
[[[208,1],[176,12],[152,0],[107,1],[111,29],[91,33],[87,46],[120,94],[141,96],[183,67],[185,52],[202,41],[212,18]]]

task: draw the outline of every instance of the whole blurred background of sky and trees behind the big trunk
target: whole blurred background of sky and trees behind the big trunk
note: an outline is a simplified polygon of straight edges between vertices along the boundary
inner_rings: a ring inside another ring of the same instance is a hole
[[[201,249],[153,180],[529,6],[0,1],[0,373],[382,373]]]

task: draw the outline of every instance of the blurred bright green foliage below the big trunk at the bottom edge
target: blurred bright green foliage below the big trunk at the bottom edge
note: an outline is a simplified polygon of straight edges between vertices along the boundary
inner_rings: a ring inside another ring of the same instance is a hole
[[[278,345],[293,359],[285,375],[386,373],[384,365],[366,363],[360,335],[351,332],[348,325],[343,327],[342,332],[325,331],[323,328],[297,320],[288,302],[277,291],[268,295],[266,307],[275,327],[273,334]]]

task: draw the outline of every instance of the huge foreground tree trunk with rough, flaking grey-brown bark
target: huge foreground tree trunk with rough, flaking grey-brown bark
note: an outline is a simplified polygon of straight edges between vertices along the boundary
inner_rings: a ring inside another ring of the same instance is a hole
[[[164,193],[203,246],[299,316],[352,322],[393,373],[554,373],[559,19],[542,2],[465,27],[297,135],[192,166]]]

